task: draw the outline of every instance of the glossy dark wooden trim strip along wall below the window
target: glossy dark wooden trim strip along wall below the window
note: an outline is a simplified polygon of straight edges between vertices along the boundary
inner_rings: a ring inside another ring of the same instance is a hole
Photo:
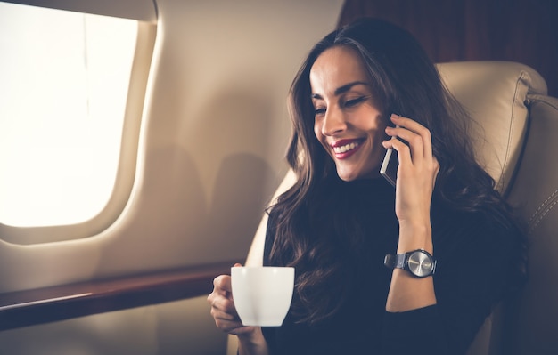
[[[234,263],[0,294],[0,331],[209,294]]]

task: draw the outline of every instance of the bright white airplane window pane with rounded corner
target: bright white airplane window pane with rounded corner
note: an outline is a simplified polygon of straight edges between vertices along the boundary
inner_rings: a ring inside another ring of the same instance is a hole
[[[137,22],[0,3],[0,223],[69,225],[106,206]]]

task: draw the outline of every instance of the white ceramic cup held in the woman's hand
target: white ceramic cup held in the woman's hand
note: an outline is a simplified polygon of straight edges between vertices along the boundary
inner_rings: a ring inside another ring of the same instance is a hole
[[[231,268],[233,300],[244,326],[279,327],[291,307],[294,268]]]

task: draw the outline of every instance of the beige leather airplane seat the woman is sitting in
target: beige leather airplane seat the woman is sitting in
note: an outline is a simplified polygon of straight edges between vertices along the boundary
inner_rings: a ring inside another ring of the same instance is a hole
[[[469,355],[558,354],[558,99],[519,63],[442,63],[449,90],[472,114],[477,156],[529,223],[529,282],[513,303],[496,307]],[[287,173],[276,195],[294,176]],[[555,207],[555,208],[554,208]],[[267,217],[247,264],[262,263]],[[229,353],[235,353],[234,338]]]

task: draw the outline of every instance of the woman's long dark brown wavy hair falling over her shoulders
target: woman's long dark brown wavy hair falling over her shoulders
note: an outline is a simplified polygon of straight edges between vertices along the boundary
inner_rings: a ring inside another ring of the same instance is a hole
[[[331,253],[324,252],[327,238],[313,237],[308,226],[308,215],[320,205],[319,192],[336,176],[332,158],[314,133],[309,74],[318,56],[334,46],[358,53],[386,120],[390,113],[398,113],[430,129],[433,154],[440,165],[433,199],[455,210],[486,211],[498,222],[513,224],[510,208],[496,192],[494,180],[475,160],[467,138],[469,117],[448,93],[414,37],[376,19],[360,19],[335,30],[309,52],[292,82],[289,109],[293,130],[286,157],[297,182],[270,207],[277,221],[270,261],[297,268],[297,302],[305,310],[300,321],[310,323],[329,317],[339,304],[339,300],[324,297],[324,290],[335,284],[332,278],[341,277],[336,273],[339,264],[331,262]],[[340,220],[349,217],[342,215],[342,209],[339,214],[335,217]]]

